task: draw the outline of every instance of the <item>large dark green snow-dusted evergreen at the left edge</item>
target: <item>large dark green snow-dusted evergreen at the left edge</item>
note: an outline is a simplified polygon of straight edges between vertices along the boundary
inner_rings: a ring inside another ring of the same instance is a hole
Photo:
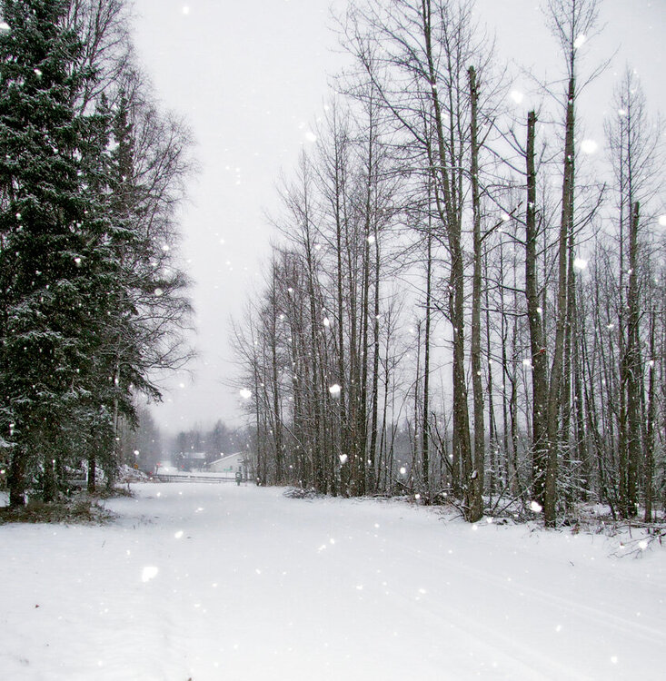
[[[109,235],[84,161],[94,118],[74,102],[93,74],[62,0],[0,3],[0,432],[10,505],[51,454],[61,418],[90,392],[113,281]]]

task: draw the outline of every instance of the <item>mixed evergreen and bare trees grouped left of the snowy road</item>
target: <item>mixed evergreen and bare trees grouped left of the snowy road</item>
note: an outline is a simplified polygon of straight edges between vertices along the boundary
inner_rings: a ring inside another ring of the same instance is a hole
[[[184,363],[184,123],[154,103],[124,0],[0,2],[0,459],[10,505],[87,463]]]

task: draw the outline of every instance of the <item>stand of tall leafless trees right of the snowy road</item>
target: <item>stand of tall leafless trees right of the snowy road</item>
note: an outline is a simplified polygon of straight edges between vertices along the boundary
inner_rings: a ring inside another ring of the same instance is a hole
[[[524,114],[471,0],[338,19],[352,65],[234,326],[260,483],[549,527],[666,502],[662,130],[627,67],[583,138],[600,3],[543,9],[562,80]]]

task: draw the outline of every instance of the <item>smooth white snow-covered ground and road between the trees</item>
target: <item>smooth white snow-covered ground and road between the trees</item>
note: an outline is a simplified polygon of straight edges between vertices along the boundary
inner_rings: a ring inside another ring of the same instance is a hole
[[[143,484],[0,527],[12,681],[661,679],[666,551],[397,502]]]

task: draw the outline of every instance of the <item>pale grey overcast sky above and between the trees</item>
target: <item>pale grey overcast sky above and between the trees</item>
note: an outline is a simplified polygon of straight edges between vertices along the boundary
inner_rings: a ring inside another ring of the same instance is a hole
[[[194,279],[193,377],[170,381],[154,408],[169,432],[239,423],[242,399],[224,385],[234,374],[229,320],[261,286],[280,173],[294,167],[343,63],[330,30],[330,0],[134,0],[137,52],[165,107],[182,114],[201,165],[183,213],[183,252]],[[343,6],[336,0],[336,6]],[[539,0],[477,0],[502,55],[534,74],[558,74],[557,46],[542,26]],[[666,0],[605,0],[602,35],[590,63],[618,49],[581,112],[586,138],[603,145],[601,122],[612,84],[631,64],[652,111],[666,113]],[[529,96],[520,106],[530,107]]]

